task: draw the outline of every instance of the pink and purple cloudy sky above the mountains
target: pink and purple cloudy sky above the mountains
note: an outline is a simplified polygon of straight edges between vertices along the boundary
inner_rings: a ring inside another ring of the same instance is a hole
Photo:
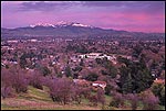
[[[164,1],[2,1],[2,27],[80,22],[103,29],[165,32]]]

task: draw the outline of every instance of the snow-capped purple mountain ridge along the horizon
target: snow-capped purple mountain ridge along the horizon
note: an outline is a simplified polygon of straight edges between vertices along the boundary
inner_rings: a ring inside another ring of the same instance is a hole
[[[77,22],[58,22],[55,24],[50,23],[37,23],[25,27],[17,29],[3,29],[1,27],[1,37],[9,36],[65,36],[65,37],[110,37],[110,36],[126,36],[126,37],[147,37],[147,36],[164,36],[163,33],[143,33],[143,32],[127,32],[117,30],[105,30],[91,25],[85,25]]]

